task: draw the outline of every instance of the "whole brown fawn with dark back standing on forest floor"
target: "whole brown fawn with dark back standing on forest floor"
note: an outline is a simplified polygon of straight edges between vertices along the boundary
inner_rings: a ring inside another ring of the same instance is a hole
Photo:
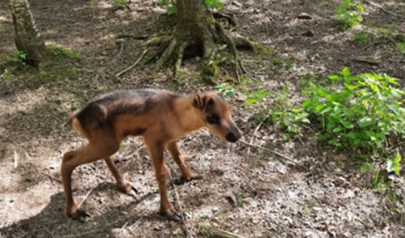
[[[189,181],[200,176],[185,165],[176,143],[178,138],[203,127],[230,142],[236,142],[241,136],[228,104],[216,92],[181,96],[164,90],[118,91],[101,96],[74,113],[70,124],[89,141],[83,148],[66,152],[62,160],[66,213],[79,220],[88,215],[74,203],[71,191],[71,174],[79,165],[104,159],[119,190],[134,195],[135,188],[123,178],[110,157],[127,136],[144,138],[159,187],[160,212],[172,220],[179,220],[179,217],[167,197],[164,150],[170,152],[182,177]]]

